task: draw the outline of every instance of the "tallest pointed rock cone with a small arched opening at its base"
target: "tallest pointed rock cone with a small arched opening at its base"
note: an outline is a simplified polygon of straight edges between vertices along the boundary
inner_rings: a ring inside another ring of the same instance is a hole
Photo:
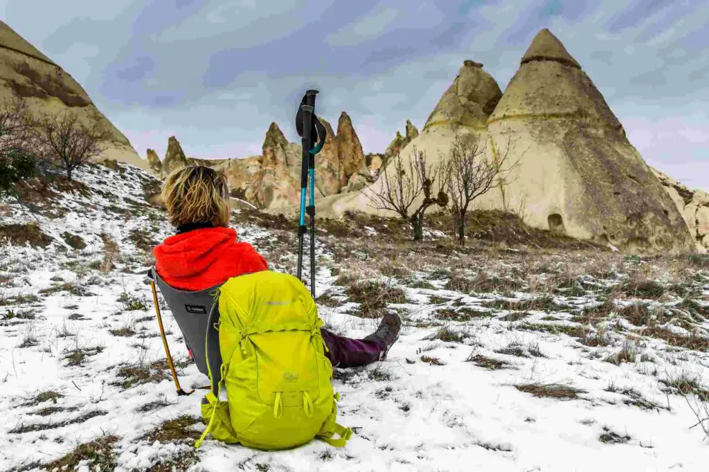
[[[492,150],[512,137],[510,155],[520,165],[506,197],[512,208],[526,202],[530,225],[563,227],[627,252],[693,248],[679,211],[601,92],[549,30],[527,49],[488,131]],[[493,193],[486,203],[499,199]]]

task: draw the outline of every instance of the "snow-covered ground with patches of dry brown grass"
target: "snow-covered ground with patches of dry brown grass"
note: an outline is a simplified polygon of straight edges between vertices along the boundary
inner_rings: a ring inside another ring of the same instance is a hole
[[[335,237],[318,240],[321,318],[351,337],[374,330],[379,320],[358,316],[372,310],[398,310],[406,325],[389,359],[335,373],[350,443],[267,453],[209,439],[195,450],[201,390],[176,395],[145,284],[150,247],[171,232],[145,201],[155,182],[124,165],[82,169],[77,180],[88,190],[0,206],[0,228],[33,221],[52,238],[0,246],[1,471],[709,468],[693,412],[709,401],[708,261],[688,259],[674,272],[683,279],[654,281],[663,261],[613,255],[605,276],[545,291],[575,255],[544,256],[532,274],[515,256],[498,279],[481,275],[484,261],[459,264],[474,254],[439,255],[437,266],[399,276],[390,265],[384,276],[372,247]],[[289,235],[237,230],[277,269],[292,268]],[[363,233],[370,245],[379,239]],[[652,283],[632,286],[624,271]],[[183,386],[205,386],[162,308]]]

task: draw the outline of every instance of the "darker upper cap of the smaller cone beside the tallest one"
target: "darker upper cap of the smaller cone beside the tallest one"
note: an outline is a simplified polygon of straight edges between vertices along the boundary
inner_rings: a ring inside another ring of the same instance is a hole
[[[445,91],[423,126],[468,126],[484,129],[487,118],[502,97],[500,86],[483,70],[483,64],[466,60],[453,84]]]

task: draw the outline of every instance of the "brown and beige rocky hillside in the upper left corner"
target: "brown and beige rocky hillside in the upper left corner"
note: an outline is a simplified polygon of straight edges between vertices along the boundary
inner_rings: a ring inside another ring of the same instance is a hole
[[[98,112],[102,128],[110,136],[104,159],[113,159],[149,170],[128,139],[98,111],[94,103],[67,72],[0,21],[0,102],[25,99],[31,113],[71,110],[85,123]]]

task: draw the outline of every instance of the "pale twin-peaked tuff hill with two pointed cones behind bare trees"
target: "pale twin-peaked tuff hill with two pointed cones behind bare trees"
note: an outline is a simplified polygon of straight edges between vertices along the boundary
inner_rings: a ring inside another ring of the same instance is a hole
[[[456,136],[476,134],[486,142],[487,159],[509,152],[519,162],[510,184],[481,197],[476,208],[522,210],[533,227],[628,252],[696,247],[601,92],[549,30],[537,34],[504,94],[499,90],[482,64],[464,62],[402,155],[411,159],[415,147],[435,163]],[[372,212],[361,194],[326,198],[319,211],[346,210]]]

